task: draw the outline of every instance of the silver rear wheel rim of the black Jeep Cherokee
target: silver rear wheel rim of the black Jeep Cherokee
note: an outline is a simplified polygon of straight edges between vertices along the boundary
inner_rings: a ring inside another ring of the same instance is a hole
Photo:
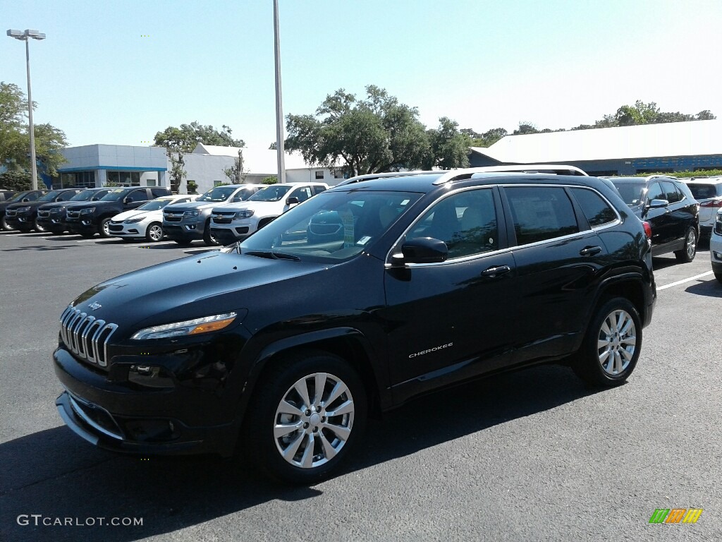
[[[607,315],[599,330],[597,351],[599,363],[606,374],[622,374],[629,366],[637,348],[637,328],[625,310]]]

